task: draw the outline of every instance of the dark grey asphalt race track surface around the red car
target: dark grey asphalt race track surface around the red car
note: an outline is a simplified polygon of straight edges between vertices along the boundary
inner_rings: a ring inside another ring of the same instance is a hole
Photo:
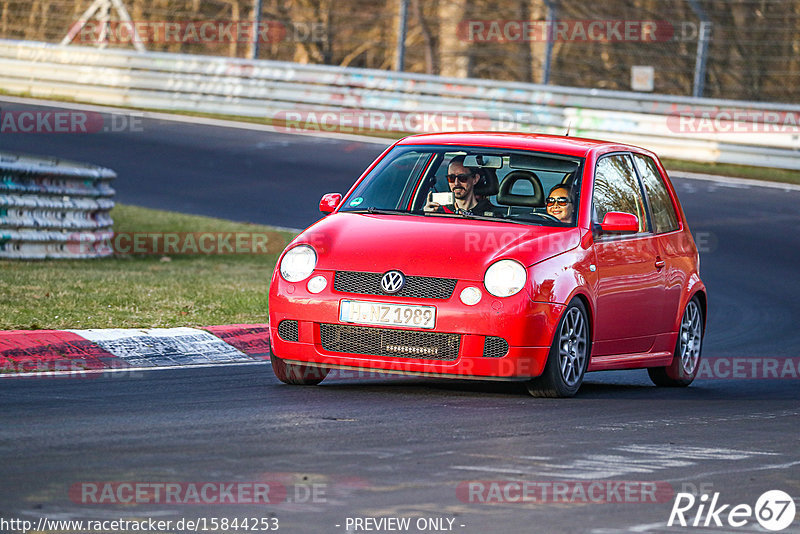
[[[0,101],[15,106],[30,108]],[[321,195],[344,192],[382,148],[149,119],[127,133],[0,135],[0,151],[115,169],[120,202],[286,227],[313,222]],[[704,358],[798,371],[800,191],[674,182],[702,248]],[[752,517],[729,526],[727,512],[724,527],[702,527],[705,517],[698,528],[666,526],[677,492],[719,492],[731,507],[753,507],[773,489],[800,496],[800,377],[717,371],[678,390],[652,386],[644,371],[595,373],[567,400],[534,399],[516,384],[403,377],[291,387],[267,365],[4,379],[0,517],[269,517],[299,533],[367,531],[354,518],[391,517],[412,518],[406,532],[762,531]],[[572,502],[518,502],[518,491],[488,491],[565,481],[670,492],[652,502],[571,489]],[[279,502],[95,504],[78,491],[111,482],[266,482]],[[444,521],[417,529],[418,518]],[[237,530],[211,530],[225,531]],[[800,532],[800,521],[783,532]]]

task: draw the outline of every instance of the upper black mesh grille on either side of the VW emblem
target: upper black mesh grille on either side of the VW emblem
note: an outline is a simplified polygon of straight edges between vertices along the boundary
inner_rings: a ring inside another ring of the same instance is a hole
[[[383,273],[337,271],[333,278],[333,289],[359,295],[385,295],[386,293],[381,289],[382,276]],[[407,276],[406,285],[393,296],[416,299],[449,299],[456,289],[456,282],[455,278]]]

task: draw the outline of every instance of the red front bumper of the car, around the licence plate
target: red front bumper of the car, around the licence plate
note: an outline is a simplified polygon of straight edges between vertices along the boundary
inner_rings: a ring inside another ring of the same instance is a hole
[[[281,359],[333,368],[453,378],[530,378],[544,370],[553,333],[564,310],[562,304],[533,302],[525,290],[511,297],[493,297],[474,281],[457,281],[448,299],[427,299],[334,291],[334,273],[315,271],[312,276],[318,275],[328,280],[328,286],[319,294],[308,292],[307,280],[292,283],[273,277],[270,336],[273,352]],[[468,286],[479,288],[483,294],[474,306],[459,299]],[[435,306],[436,326],[426,330],[342,323],[339,306],[345,299]],[[352,337],[354,333],[362,336],[363,343],[341,343],[344,336]],[[392,351],[403,354],[389,355]],[[424,355],[417,357],[415,351]]]

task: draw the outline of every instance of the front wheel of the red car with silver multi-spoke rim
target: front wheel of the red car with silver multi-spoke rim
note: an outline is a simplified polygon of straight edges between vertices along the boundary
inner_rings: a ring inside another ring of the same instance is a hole
[[[572,397],[580,389],[591,353],[589,314],[579,299],[558,322],[542,376],[526,383],[534,397]]]

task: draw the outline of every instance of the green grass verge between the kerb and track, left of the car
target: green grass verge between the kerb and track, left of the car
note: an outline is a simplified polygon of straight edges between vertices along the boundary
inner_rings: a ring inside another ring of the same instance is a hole
[[[267,322],[269,281],[291,233],[119,204],[112,217],[117,232],[263,232],[276,239],[265,254],[0,260],[0,330]]]

